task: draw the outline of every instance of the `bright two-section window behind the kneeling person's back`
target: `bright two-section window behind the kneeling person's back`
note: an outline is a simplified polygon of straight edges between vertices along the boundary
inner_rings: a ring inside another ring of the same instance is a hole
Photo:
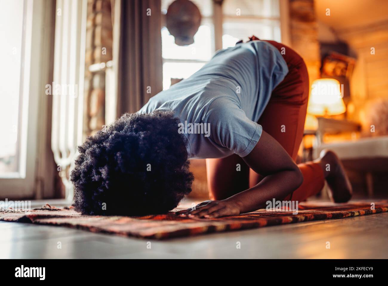
[[[162,17],[173,0],[162,0]],[[208,62],[215,52],[215,37],[222,37],[222,47],[233,47],[251,35],[281,42],[279,0],[223,0],[222,35],[216,35],[213,25],[212,0],[192,0],[202,15],[202,23],[194,44],[178,46],[166,27],[162,27],[163,89],[174,78],[187,78]]]

